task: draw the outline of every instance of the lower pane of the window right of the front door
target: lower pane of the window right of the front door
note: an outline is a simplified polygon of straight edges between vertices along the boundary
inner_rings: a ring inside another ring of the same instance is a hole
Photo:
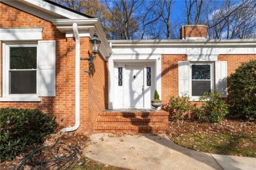
[[[211,81],[192,81],[192,96],[202,96],[211,91]]]

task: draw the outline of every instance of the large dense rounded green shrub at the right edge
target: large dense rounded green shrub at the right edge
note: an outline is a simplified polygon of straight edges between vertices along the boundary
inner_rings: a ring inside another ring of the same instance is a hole
[[[256,60],[243,63],[228,81],[230,116],[256,120]]]

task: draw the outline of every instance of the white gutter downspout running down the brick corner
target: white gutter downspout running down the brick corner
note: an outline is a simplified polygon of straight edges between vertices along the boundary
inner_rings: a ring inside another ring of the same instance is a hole
[[[61,129],[62,132],[75,131],[80,125],[80,39],[77,23],[73,23],[75,35],[75,125]]]

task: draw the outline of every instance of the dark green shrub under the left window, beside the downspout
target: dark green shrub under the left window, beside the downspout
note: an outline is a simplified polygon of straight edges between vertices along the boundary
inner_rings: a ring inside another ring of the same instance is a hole
[[[55,118],[39,110],[0,108],[0,161],[11,160],[54,133]]]

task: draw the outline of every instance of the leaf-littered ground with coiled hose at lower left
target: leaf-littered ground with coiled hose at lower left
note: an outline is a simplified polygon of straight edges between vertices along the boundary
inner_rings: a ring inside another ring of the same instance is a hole
[[[20,154],[12,161],[0,163],[0,169],[120,169],[86,158],[82,151],[89,138],[79,133],[56,133],[43,144]],[[47,146],[47,147],[45,147]],[[37,152],[36,152],[37,151]],[[26,161],[24,161],[28,158]],[[23,162],[24,161],[24,162]],[[22,164],[22,165],[21,165]]]

